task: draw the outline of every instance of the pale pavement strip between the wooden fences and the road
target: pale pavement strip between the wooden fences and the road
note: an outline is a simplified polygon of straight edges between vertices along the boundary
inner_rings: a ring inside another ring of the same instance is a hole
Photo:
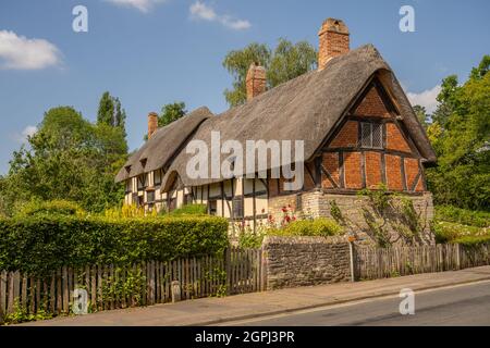
[[[352,301],[397,296],[403,288],[427,289],[490,281],[490,266],[426,273],[376,281],[252,293],[223,298],[201,298],[177,303],[60,316],[29,326],[181,326],[218,325]],[[401,299],[397,299],[399,302]],[[400,315],[400,314],[399,314]],[[306,325],[306,324],[305,324]]]

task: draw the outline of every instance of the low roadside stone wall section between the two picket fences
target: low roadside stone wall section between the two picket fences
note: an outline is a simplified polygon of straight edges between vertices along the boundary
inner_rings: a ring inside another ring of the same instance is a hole
[[[351,279],[348,243],[340,237],[266,237],[267,289]]]

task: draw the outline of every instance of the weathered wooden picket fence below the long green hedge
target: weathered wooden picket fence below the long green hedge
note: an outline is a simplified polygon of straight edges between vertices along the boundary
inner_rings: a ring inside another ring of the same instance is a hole
[[[127,268],[62,268],[48,277],[0,272],[0,323],[17,311],[70,313],[74,289],[85,289],[89,311],[147,306],[172,300],[172,281],[181,299],[260,291],[265,288],[260,249],[229,248],[223,257],[142,262]]]

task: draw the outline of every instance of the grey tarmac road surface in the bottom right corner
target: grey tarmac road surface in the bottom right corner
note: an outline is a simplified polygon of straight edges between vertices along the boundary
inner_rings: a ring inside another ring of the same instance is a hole
[[[490,282],[415,293],[413,315],[400,313],[402,300],[391,296],[221,325],[490,325]]]

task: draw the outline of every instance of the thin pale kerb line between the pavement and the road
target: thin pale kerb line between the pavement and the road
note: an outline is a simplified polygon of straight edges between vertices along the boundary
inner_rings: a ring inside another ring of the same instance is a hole
[[[415,290],[415,294],[419,295],[419,294],[426,294],[426,293],[433,293],[433,291],[438,291],[438,290],[446,290],[446,289],[453,289],[453,288],[458,288],[458,287],[464,287],[464,286],[479,285],[479,284],[485,284],[485,283],[489,283],[490,284],[490,279],[477,281],[477,282],[470,282],[470,283],[463,283],[463,284],[455,284],[455,285],[446,285],[446,286],[433,287],[433,288],[422,289],[422,290]],[[343,302],[343,303],[326,304],[326,306],[310,308],[310,309],[292,310],[292,311],[289,311],[289,312],[285,312],[285,313],[280,313],[280,314],[271,314],[271,315],[267,315],[266,314],[266,315],[262,315],[262,316],[245,319],[245,320],[236,320],[236,321],[231,320],[231,321],[228,321],[228,322],[221,322],[221,323],[218,323],[218,324],[211,324],[210,326],[241,325],[241,324],[261,322],[261,321],[267,321],[267,320],[272,320],[272,319],[280,319],[280,318],[291,316],[291,315],[315,313],[315,312],[320,312],[320,311],[330,310],[330,309],[351,307],[351,306],[368,303],[368,302],[376,302],[376,301],[381,301],[381,300],[385,300],[385,299],[394,299],[394,298],[399,298],[399,294],[383,295],[383,296],[371,297],[371,298],[366,298],[366,299],[362,299],[362,300],[352,300],[352,301],[347,301],[347,302]]]

